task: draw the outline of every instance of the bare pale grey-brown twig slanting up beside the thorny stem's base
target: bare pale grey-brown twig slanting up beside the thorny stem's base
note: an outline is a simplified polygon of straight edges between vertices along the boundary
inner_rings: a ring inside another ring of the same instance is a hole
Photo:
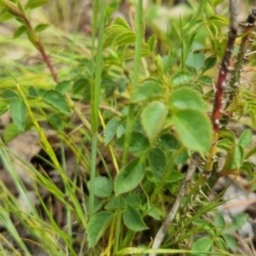
[[[160,230],[158,230],[156,236],[154,237],[154,242],[153,242],[152,248],[154,248],[154,249],[159,248],[162,241],[164,240],[164,237],[166,236],[166,230],[172,224],[172,220],[175,218],[175,216],[177,214],[177,210],[180,207],[183,196],[185,195],[189,180],[192,178],[192,176],[195,173],[195,169],[196,169],[195,161],[191,160],[189,169],[187,171],[187,175],[186,175],[185,179],[183,180],[183,183],[178,192],[176,201],[174,202],[172,209],[166,218],[166,221],[161,225]],[[149,254],[149,256],[155,256],[155,255],[156,255],[156,253]]]

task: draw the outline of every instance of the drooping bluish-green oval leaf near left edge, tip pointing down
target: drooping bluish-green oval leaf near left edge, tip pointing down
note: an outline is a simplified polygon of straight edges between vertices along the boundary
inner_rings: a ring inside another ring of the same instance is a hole
[[[10,103],[10,115],[20,131],[25,131],[26,105],[20,98],[15,98]]]

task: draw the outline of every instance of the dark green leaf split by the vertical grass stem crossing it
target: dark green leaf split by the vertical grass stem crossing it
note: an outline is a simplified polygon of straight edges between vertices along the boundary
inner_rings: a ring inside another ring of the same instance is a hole
[[[115,145],[118,146],[120,149],[124,148],[125,143],[125,134],[119,137],[116,141]],[[141,132],[132,131],[131,133],[131,142],[129,152],[137,153],[137,152],[144,152],[148,150],[148,138],[143,135]]]

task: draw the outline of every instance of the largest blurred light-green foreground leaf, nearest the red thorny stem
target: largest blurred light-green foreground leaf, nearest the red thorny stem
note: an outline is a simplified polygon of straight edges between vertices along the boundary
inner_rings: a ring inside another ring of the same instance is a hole
[[[194,109],[180,110],[172,124],[184,147],[207,153],[212,143],[212,125],[207,115]]]

